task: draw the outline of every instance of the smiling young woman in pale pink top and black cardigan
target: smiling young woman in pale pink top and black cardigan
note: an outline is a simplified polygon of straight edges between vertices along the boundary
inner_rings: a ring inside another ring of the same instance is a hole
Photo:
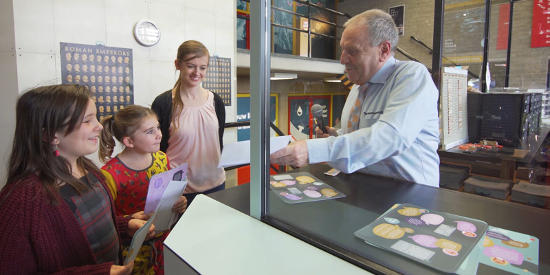
[[[217,94],[201,87],[210,54],[199,41],[185,41],[177,49],[179,78],[173,89],[155,98],[151,109],[159,116],[160,150],[170,166],[188,164],[188,204],[198,194],[225,188],[225,171],[218,168],[223,147],[225,107]]]

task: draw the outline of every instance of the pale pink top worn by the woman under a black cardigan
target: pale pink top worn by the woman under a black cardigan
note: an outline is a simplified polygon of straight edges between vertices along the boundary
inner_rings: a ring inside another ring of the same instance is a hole
[[[201,107],[185,107],[179,115],[179,127],[170,124],[170,138],[166,155],[170,168],[188,164],[187,187],[184,193],[204,192],[225,181],[225,170],[217,168],[220,159],[218,118],[214,109],[214,95]]]

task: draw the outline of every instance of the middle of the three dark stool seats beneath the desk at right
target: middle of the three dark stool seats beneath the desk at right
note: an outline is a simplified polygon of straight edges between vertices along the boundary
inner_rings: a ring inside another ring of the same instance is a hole
[[[485,197],[506,199],[510,195],[512,181],[510,179],[494,179],[473,175],[464,181],[464,191]]]

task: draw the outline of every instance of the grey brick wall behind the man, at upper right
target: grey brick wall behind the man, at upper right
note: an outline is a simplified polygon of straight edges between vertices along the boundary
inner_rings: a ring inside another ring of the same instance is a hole
[[[453,39],[453,43],[461,46],[462,49],[452,51],[447,49],[443,52],[443,56],[448,58],[461,56],[483,56],[481,47],[481,39],[483,39],[483,28],[477,34],[460,33],[457,30],[464,28],[456,28],[457,24],[463,21],[453,22],[453,18],[458,18],[457,12],[461,10],[484,10],[484,1],[445,1],[447,7],[452,7],[448,11],[449,16],[445,19],[445,35],[443,39]],[[500,3],[498,3],[500,2]],[[493,1],[491,30],[489,36],[489,63],[500,65],[495,72],[492,72],[494,79],[503,79],[503,64],[506,60],[507,50],[496,50],[496,39],[498,33],[498,14],[499,7],[502,3],[508,1]],[[473,3],[472,5],[465,5]],[[405,5],[405,23],[404,36],[399,37],[398,47],[417,58],[421,63],[431,67],[432,56],[428,49],[416,43],[410,36],[423,41],[426,45],[432,47],[433,41],[433,17],[434,17],[434,0],[340,0],[337,10],[347,12],[348,14],[356,15],[364,10],[378,8],[388,11],[389,7],[396,5]],[[550,59],[550,47],[531,48],[531,22],[533,17],[533,1],[517,1],[514,6],[514,19],[512,28],[512,43],[511,43],[511,58],[509,61],[509,87],[520,87],[522,89],[544,88],[547,85],[548,62]],[[471,19],[471,18],[470,18]],[[339,22],[343,23],[343,22]],[[475,22],[472,22],[472,24]],[[483,22],[481,23],[483,24]],[[341,36],[342,30],[339,30],[338,36]],[[466,49],[467,48],[467,49]],[[444,49],[445,50],[445,49]],[[340,51],[340,49],[338,49]],[[340,56],[340,52],[338,55]],[[397,53],[397,59],[406,60],[405,56]],[[470,71],[474,74],[481,73],[481,63],[461,63],[461,65],[470,65]],[[499,81],[497,87],[503,87],[503,81]]]

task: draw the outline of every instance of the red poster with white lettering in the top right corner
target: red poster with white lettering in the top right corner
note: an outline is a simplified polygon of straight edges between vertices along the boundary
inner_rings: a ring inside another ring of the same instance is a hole
[[[550,47],[550,0],[533,1],[531,47]]]

